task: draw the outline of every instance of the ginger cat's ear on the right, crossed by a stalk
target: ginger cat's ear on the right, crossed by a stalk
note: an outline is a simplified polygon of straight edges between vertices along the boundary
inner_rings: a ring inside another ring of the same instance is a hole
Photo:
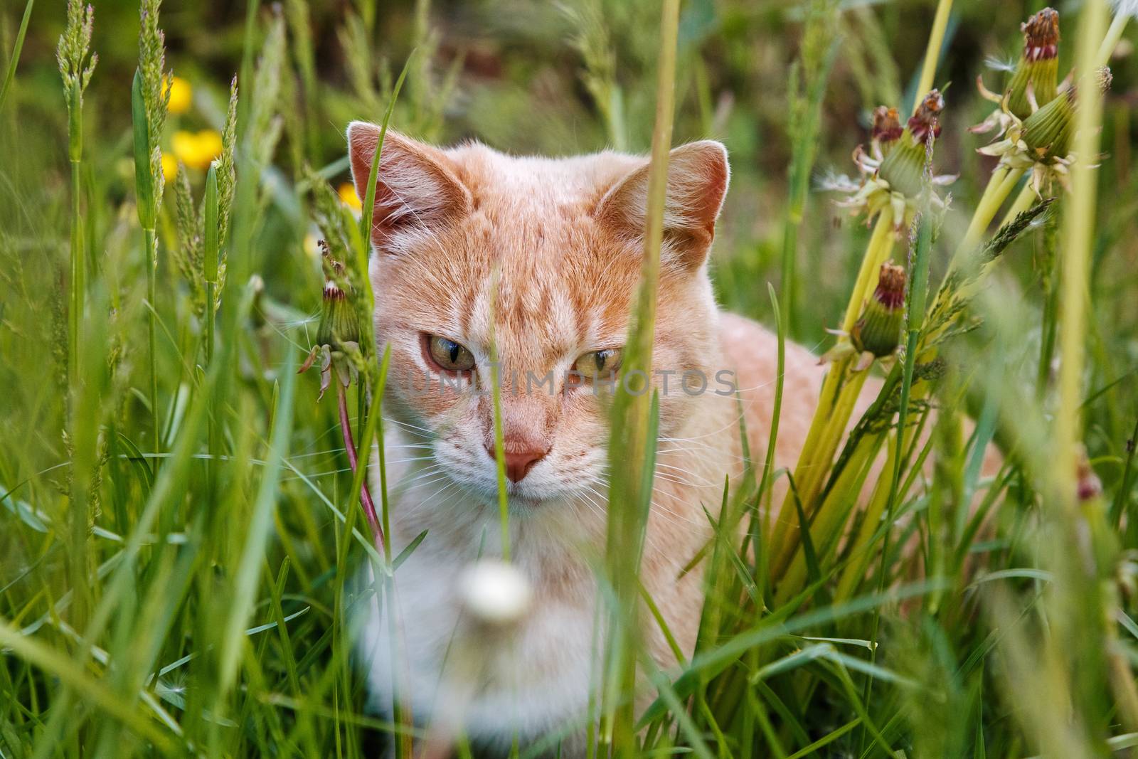
[[[649,164],[634,170],[604,193],[596,207],[602,224],[628,239],[641,239],[648,208]],[[695,270],[707,259],[715,221],[727,195],[731,170],[721,142],[701,140],[668,154],[663,204],[663,266]]]

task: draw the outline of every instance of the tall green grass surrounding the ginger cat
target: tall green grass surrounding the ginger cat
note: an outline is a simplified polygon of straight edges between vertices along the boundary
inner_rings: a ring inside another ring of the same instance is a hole
[[[885,390],[869,411],[853,413],[865,376],[840,357],[799,467],[751,451],[729,484],[682,671],[644,659],[635,626],[658,609],[635,603],[635,553],[610,552],[594,756],[1138,745],[1132,55],[1111,61],[1102,97],[1080,81],[1074,149],[1103,156],[1038,205],[1030,170],[993,172],[965,129],[995,107],[975,76],[1009,77],[984,56],[1017,53],[1034,2],[170,2],[141,55],[138,7],[98,5],[86,40],[80,6],[65,31],[61,5],[0,9],[0,757],[414,750],[421,728],[369,709],[353,660],[353,612],[389,597],[404,558],[382,541],[386,485],[364,513],[337,402],[296,373],[318,337],[322,238],[362,317],[360,348],[331,348],[358,378],[339,399],[366,462],[382,393],[364,388],[382,388],[387,360],[362,305],[369,222],[335,195],[353,118],[512,151],[651,150],[629,365],[651,356],[669,145],[727,142],[717,292],[781,338],[825,350],[880,263],[907,266],[906,349],[872,370]],[[1103,2],[1061,10],[1061,72],[1135,40]],[[171,67],[193,100],[165,114]],[[853,172],[873,107],[904,123],[931,84],[947,100],[932,173],[959,178],[941,213],[925,176],[894,240],[892,209],[848,216],[818,179]],[[225,151],[187,159],[160,192],[155,149],[205,129]],[[625,508],[610,538],[638,545],[657,406],[618,397],[613,413]],[[773,446],[777,424],[762,432]],[[780,508],[798,529],[772,525]],[[353,581],[363,562],[371,587]],[[642,713],[637,663],[658,696]]]

